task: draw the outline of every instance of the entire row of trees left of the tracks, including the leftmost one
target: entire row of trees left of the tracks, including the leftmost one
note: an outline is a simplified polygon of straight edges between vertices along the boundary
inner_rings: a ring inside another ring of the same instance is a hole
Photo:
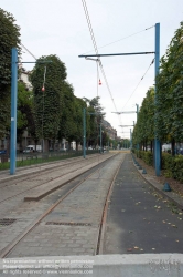
[[[21,61],[20,28],[13,16],[0,9],[0,138],[10,133],[11,49],[17,48]],[[45,74],[46,66],[46,74]],[[44,90],[43,90],[43,81]],[[65,64],[56,55],[41,57],[32,71],[30,81],[33,91],[18,82],[18,140],[22,141],[24,130],[34,138],[53,142],[66,138],[83,142],[83,110],[86,109],[86,132],[88,145],[99,144],[99,124],[104,112],[99,98],[79,99],[66,81]],[[97,115],[96,115],[97,114]],[[109,137],[103,130],[103,145]]]

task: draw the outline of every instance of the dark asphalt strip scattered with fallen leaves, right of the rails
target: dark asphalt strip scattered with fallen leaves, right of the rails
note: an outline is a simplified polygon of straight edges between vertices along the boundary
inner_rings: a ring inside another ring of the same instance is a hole
[[[104,254],[183,253],[183,211],[144,182],[130,154],[110,201]]]

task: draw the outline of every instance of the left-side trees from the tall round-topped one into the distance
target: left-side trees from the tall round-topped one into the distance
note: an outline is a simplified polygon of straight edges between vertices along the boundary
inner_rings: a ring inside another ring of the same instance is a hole
[[[47,55],[37,60],[31,74],[35,135],[52,142],[64,137],[68,142],[76,141],[78,145],[83,142],[83,111],[86,109],[87,142],[89,145],[99,144],[99,124],[105,115],[99,98],[76,98],[66,76],[65,64],[58,57]],[[107,140],[104,131],[103,143],[106,144]]]

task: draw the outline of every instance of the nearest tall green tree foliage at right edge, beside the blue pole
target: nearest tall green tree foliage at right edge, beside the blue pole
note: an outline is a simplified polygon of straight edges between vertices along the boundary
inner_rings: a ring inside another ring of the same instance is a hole
[[[164,141],[183,141],[183,22],[161,59],[157,78],[157,131]]]

